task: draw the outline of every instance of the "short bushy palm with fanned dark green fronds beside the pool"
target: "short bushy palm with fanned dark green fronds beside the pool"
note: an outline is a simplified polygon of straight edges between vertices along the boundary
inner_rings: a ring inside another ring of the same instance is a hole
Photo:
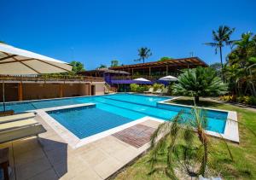
[[[177,77],[177,84],[173,85],[174,94],[194,96],[196,104],[200,96],[218,96],[226,92],[227,85],[210,67],[183,70],[183,73]]]

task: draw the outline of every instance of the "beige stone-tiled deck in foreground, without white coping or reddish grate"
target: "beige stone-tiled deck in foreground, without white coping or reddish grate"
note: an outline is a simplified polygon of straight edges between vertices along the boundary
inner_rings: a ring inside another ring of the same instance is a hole
[[[36,119],[47,129],[40,135],[41,144],[31,137],[0,145],[9,147],[10,179],[105,179],[149,147],[147,142],[135,148],[110,135],[72,148],[40,116]],[[159,122],[146,120],[140,125],[156,128]]]

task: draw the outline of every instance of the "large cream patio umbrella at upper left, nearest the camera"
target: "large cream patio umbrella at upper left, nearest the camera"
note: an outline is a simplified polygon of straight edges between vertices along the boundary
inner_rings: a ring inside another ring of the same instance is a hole
[[[28,50],[18,49],[8,44],[0,43],[0,74],[24,75],[41,73],[70,72],[72,66],[67,62],[38,55]],[[3,81],[3,111],[5,111],[4,81]]]

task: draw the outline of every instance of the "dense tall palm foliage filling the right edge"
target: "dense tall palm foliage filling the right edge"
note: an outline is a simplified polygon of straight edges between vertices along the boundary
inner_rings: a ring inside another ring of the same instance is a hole
[[[256,36],[252,32],[241,34],[241,40],[234,43],[224,73],[231,91],[256,96]]]

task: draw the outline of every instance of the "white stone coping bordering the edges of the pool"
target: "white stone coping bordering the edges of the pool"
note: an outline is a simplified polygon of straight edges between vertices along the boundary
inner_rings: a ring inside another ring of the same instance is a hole
[[[131,93],[133,94],[133,93]],[[138,94],[140,95],[140,94]],[[102,95],[100,95],[102,96]],[[108,96],[108,95],[105,95]],[[144,95],[143,96],[151,96],[151,95]],[[81,97],[81,96],[79,96]],[[85,96],[84,96],[85,97]],[[177,98],[180,98],[180,96],[172,97],[171,96],[159,96],[159,97],[169,97],[170,99],[166,99],[164,101],[160,101],[157,103],[160,104],[166,104],[171,106],[179,106],[179,107],[193,107],[188,105],[180,105],[176,103],[170,103],[170,101],[175,100]],[[68,97],[73,98],[73,97]],[[61,99],[61,98],[55,98],[55,99]],[[66,99],[66,98],[65,98]],[[54,99],[51,99],[54,100]],[[30,101],[28,101],[30,102]],[[142,119],[136,119],[131,121],[130,123],[126,123],[124,125],[119,125],[117,127],[114,127],[108,131],[102,131],[100,133],[97,133],[92,136],[85,137],[83,139],[79,139],[78,136],[75,136],[71,131],[68,131],[66,127],[61,125],[57,120],[53,119],[47,112],[48,111],[55,111],[55,110],[61,110],[61,109],[67,109],[67,108],[73,108],[73,107],[84,107],[84,106],[96,106],[95,103],[82,103],[82,104],[75,104],[75,105],[68,105],[68,106],[61,106],[61,107],[49,107],[49,108],[42,108],[42,109],[36,109],[32,110],[32,112],[38,113],[39,116],[44,119],[44,121],[59,135],[61,136],[72,148],[79,148],[81,146],[84,146],[87,143],[94,142],[98,139],[101,139],[105,136],[112,135],[113,133],[116,133],[118,131],[122,131],[128,127],[131,127],[133,125],[140,124],[146,120],[154,120],[160,123],[165,122],[164,119],[156,119],[150,116],[145,116]],[[213,131],[207,131],[207,134],[210,136],[216,136],[216,137],[222,137],[226,140],[229,140],[231,142],[237,142],[239,143],[239,131],[238,131],[238,122],[237,122],[237,114],[235,111],[226,111],[221,109],[214,109],[214,108],[207,108],[207,107],[199,107],[201,109],[207,109],[212,111],[218,111],[218,112],[225,112],[228,113],[226,125],[224,129],[224,133],[217,133]]]

